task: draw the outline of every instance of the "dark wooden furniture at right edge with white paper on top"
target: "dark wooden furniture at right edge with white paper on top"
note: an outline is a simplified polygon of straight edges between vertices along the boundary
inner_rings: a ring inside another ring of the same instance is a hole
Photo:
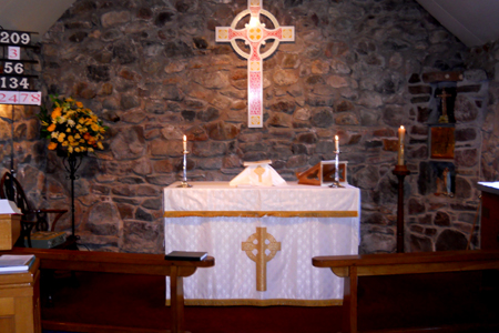
[[[499,250],[499,189],[478,183],[481,191],[480,249]]]

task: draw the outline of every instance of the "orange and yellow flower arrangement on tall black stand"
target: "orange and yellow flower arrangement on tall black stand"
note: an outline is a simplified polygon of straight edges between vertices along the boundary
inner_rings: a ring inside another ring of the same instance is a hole
[[[49,150],[65,157],[85,155],[95,149],[104,149],[102,140],[108,127],[79,101],[71,97],[50,95],[52,112],[41,108],[40,135],[50,139]]]

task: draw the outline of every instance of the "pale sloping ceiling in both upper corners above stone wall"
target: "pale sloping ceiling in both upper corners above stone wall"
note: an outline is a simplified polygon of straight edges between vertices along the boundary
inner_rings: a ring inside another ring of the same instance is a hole
[[[75,0],[0,0],[0,26],[40,39]],[[499,0],[416,0],[466,46],[499,39]]]

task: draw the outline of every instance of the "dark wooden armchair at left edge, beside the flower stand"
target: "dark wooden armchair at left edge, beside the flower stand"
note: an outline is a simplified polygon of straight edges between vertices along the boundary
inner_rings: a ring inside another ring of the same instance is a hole
[[[23,244],[24,238],[28,239],[28,245],[31,248],[31,232],[34,228],[37,231],[54,231],[55,225],[61,216],[68,212],[68,210],[47,210],[47,209],[33,209],[26,196],[19,181],[12,176],[10,172],[6,172],[0,180],[0,199],[9,199],[16,202],[18,208],[22,211],[21,219],[21,238],[20,245]],[[52,223],[49,223],[49,214],[53,214]],[[49,226],[50,225],[50,226]],[[75,242],[67,242],[58,248],[71,248]],[[73,248],[75,244],[73,245]],[[75,249],[73,249],[75,250]]]

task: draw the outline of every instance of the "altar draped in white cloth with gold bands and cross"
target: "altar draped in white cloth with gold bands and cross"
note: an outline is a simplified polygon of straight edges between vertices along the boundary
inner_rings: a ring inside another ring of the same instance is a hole
[[[165,253],[206,251],[215,266],[184,281],[186,305],[342,304],[343,280],[312,258],[358,253],[359,189],[191,184],[164,189]]]

